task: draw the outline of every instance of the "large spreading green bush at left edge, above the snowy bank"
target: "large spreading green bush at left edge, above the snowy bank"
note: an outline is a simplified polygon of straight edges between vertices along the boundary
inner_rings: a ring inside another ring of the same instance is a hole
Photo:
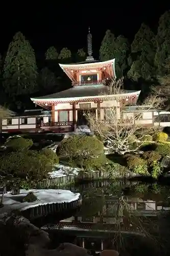
[[[49,177],[53,164],[43,154],[35,154],[31,151],[12,152],[0,158],[0,175],[9,176],[11,183],[16,178],[20,179],[20,185],[35,186],[38,181]],[[10,178],[11,177],[11,178]]]

